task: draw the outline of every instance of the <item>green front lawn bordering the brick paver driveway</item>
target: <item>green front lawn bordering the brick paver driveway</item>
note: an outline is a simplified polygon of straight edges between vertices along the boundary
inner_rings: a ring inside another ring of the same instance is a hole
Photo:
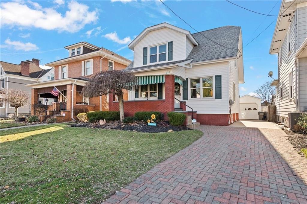
[[[100,203],[202,136],[53,124],[0,131],[0,203]]]

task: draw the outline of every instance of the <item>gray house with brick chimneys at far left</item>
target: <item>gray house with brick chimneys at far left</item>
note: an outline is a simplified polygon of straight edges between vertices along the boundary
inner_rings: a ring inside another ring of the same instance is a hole
[[[7,89],[26,91],[31,96],[31,89],[24,84],[52,80],[54,69],[44,70],[39,67],[39,59],[21,61],[20,64],[0,61],[0,91],[5,93]],[[15,115],[15,108],[5,103],[0,95],[0,117]],[[18,108],[18,115],[30,114],[30,102]]]

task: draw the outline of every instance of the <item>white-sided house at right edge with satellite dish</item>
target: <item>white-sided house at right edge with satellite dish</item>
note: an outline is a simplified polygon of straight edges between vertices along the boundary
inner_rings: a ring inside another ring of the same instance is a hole
[[[306,0],[282,1],[270,54],[278,54],[278,79],[271,83],[277,90],[276,118],[289,125],[289,115],[307,111]]]

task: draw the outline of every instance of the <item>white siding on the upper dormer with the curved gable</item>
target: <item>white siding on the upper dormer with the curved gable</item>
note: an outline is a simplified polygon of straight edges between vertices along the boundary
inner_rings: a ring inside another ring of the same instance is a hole
[[[134,47],[134,67],[143,65],[143,48],[173,41],[173,61],[186,59],[186,35],[169,28],[149,32]],[[149,49],[148,49],[149,53]],[[158,59],[157,59],[158,61]],[[163,61],[165,62],[165,61]],[[163,63],[160,62],[160,63]],[[159,63],[159,62],[157,62]],[[150,64],[149,60],[147,65]]]

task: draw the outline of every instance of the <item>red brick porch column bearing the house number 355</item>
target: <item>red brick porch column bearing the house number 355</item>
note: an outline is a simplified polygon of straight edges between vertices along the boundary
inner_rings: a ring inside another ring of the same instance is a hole
[[[165,112],[170,112],[175,110],[175,76],[166,75],[165,76]],[[167,115],[165,114],[165,119]]]

